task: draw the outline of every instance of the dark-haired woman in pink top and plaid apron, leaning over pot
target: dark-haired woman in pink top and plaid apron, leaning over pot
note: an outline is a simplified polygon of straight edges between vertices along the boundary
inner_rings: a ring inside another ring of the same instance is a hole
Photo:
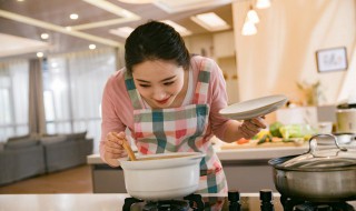
[[[227,107],[225,80],[208,58],[191,57],[168,24],[150,21],[126,40],[126,68],[111,76],[102,98],[100,155],[118,165],[127,157],[126,129],[141,154],[204,152],[198,193],[226,193],[221,163],[210,138],[250,139],[266,128],[263,118],[243,123],[219,114]]]

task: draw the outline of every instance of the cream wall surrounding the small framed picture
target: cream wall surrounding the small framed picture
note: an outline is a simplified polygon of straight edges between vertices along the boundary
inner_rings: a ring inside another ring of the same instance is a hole
[[[345,78],[356,71],[355,0],[274,0],[257,10],[257,34],[245,37],[240,30],[251,2],[233,3],[239,100],[284,93],[303,103],[296,83],[319,81],[319,104],[337,103]],[[316,51],[335,47],[346,47],[348,70],[318,73]]]

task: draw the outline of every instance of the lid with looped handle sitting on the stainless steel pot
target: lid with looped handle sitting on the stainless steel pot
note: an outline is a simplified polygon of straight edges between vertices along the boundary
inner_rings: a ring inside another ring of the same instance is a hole
[[[337,147],[336,149],[317,150],[317,138],[325,135],[334,139]],[[279,164],[279,167],[293,169],[328,169],[349,165],[356,165],[356,150],[339,147],[333,134],[317,134],[312,137],[308,152]]]

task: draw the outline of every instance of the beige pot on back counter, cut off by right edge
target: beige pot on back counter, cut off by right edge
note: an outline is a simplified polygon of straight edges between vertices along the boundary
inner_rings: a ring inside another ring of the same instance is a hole
[[[339,109],[336,119],[337,132],[356,133],[356,109]]]

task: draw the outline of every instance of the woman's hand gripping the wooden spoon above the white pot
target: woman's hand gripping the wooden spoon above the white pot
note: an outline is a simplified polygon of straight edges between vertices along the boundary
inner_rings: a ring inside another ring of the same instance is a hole
[[[118,167],[119,162],[117,159],[127,157],[127,152],[122,147],[126,140],[125,132],[109,132],[107,139],[103,142],[105,160],[111,167]]]

